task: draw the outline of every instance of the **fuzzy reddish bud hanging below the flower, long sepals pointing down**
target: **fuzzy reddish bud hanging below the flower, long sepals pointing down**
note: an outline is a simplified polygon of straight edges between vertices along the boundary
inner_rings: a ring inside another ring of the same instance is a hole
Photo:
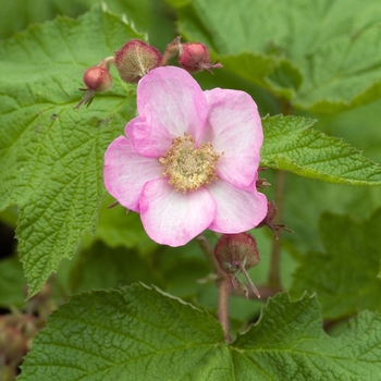
[[[233,287],[234,280],[236,280],[239,290],[244,292],[246,298],[248,297],[246,286],[237,278],[237,275],[242,272],[246,276],[251,291],[258,297],[260,297],[258,290],[247,273],[248,269],[258,265],[259,262],[257,243],[251,235],[247,233],[223,234],[216,245],[214,256],[221,270],[230,275],[233,275]]]

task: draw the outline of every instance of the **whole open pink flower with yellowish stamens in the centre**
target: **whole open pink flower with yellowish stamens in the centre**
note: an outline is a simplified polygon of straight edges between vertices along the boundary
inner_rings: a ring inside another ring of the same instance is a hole
[[[159,244],[185,245],[210,229],[241,233],[259,224],[263,134],[257,106],[238,90],[202,91],[183,69],[157,67],[137,86],[137,111],[105,156],[105,185],[140,213]]]

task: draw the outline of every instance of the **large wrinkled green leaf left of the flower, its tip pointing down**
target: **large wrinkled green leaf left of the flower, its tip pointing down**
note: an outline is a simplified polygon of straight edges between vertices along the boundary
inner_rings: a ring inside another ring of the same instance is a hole
[[[20,206],[19,250],[30,295],[95,230],[105,150],[135,114],[134,87],[121,81],[89,109],[74,110],[83,71],[136,37],[97,8],[78,21],[34,25],[0,45],[7,73],[0,79],[0,210]]]

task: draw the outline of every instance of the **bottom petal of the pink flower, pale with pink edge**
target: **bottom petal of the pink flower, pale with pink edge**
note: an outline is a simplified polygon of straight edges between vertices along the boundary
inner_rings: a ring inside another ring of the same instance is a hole
[[[147,183],[140,196],[140,218],[147,234],[157,243],[182,246],[213,221],[216,202],[205,188],[183,194],[168,180]]]

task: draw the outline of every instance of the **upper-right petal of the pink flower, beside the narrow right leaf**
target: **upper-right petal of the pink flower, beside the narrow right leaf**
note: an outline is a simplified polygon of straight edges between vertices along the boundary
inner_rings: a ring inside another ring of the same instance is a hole
[[[257,105],[244,91],[216,88],[205,94],[209,114],[201,142],[224,152],[217,165],[218,176],[235,187],[247,187],[256,176],[263,142]]]

